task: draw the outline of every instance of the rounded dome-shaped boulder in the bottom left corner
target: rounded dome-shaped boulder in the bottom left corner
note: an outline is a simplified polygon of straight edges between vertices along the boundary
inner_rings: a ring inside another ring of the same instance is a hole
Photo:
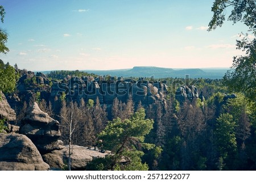
[[[22,134],[0,133],[0,170],[45,171],[45,163],[32,141]]]

